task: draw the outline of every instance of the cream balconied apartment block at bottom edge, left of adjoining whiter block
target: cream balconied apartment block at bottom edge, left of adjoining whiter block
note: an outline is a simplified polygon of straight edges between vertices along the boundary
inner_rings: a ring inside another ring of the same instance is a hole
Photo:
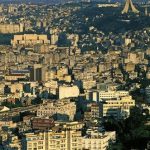
[[[82,150],[81,131],[27,133],[22,150]]]

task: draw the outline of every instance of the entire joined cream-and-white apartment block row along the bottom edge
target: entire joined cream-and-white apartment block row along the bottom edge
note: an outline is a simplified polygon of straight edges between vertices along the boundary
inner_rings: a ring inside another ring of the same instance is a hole
[[[106,150],[115,139],[115,132],[101,134],[97,130],[84,137],[79,130],[27,133],[22,150]]]

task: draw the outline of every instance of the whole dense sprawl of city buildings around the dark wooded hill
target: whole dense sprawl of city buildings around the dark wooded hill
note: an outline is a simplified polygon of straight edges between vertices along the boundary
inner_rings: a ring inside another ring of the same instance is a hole
[[[94,27],[87,34],[69,33],[79,9],[0,7],[0,33],[14,34],[10,45],[0,45],[0,149],[106,150],[117,136],[102,121],[126,119],[136,106],[131,93],[141,87],[135,81],[150,79],[150,49],[133,50],[144,39],[135,37],[150,30],[121,39]],[[101,46],[110,43],[108,52],[84,51],[91,37]],[[149,102],[150,87],[140,92]]]

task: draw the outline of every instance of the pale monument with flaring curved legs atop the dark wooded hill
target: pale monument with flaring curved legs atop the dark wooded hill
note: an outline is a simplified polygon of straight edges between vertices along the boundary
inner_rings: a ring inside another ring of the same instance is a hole
[[[125,3],[125,6],[124,6],[124,9],[122,10],[122,14],[126,14],[129,12],[129,9],[131,9],[131,11],[133,13],[139,13],[139,11],[135,8],[135,6],[133,5],[132,3],[132,0],[126,0],[126,3]]]

